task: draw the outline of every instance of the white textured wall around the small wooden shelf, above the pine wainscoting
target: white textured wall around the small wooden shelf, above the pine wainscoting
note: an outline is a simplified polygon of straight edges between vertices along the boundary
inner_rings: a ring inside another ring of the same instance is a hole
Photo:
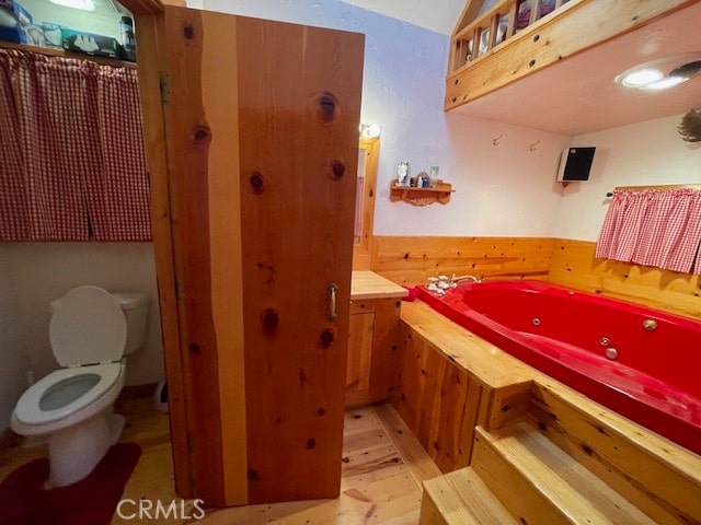
[[[570,137],[443,110],[448,36],[340,0],[197,0],[193,8],[366,34],[364,122],[382,126],[376,235],[552,235],[554,178]],[[498,145],[492,140],[502,135]],[[529,145],[540,141],[536,151]],[[389,200],[399,161],[432,165],[456,189],[449,205]]]

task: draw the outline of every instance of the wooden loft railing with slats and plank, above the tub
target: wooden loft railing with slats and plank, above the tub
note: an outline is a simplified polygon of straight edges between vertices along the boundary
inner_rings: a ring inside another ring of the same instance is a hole
[[[468,0],[451,36],[445,109],[455,109],[696,1],[556,0],[556,9],[540,18],[542,2],[531,0],[535,9],[529,25],[517,32],[521,0],[501,0],[479,19],[475,5],[482,2]]]

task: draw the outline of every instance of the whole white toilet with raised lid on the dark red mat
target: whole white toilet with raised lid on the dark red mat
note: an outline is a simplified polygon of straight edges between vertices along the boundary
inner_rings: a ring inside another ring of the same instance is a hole
[[[48,439],[51,487],[80,481],[104,457],[124,417],[113,405],[126,374],[124,355],[143,346],[148,298],[78,287],[51,302],[49,340],[64,366],[20,398],[11,427]]]

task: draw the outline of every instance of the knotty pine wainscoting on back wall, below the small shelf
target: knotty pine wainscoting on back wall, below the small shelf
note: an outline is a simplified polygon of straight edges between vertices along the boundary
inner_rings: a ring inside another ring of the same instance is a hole
[[[422,284],[438,273],[544,279],[552,238],[390,237],[372,240],[372,271],[405,284]]]

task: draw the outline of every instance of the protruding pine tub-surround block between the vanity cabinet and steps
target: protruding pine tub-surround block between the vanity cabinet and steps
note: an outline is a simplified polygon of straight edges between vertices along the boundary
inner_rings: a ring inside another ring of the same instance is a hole
[[[444,472],[470,464],[474,427],[518,410],[533,370],[436,313],[404,303],[394,408]]]

